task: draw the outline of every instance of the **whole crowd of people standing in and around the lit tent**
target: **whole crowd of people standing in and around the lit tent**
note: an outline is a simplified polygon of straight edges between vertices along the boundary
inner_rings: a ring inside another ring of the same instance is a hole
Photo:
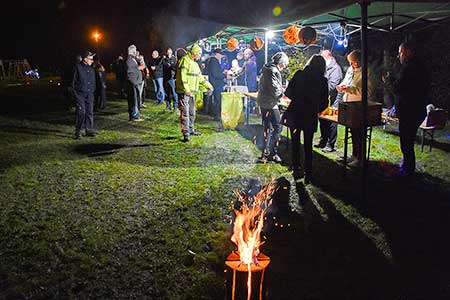
[[[425,99],[429,89],[428,75],[416,55],[412,43],[403,43],[399,48],[402,69],[396,80],[392,80],[396,94],[397,116],[400,122],[400,143],[403,153],[401,174],[410,175],[415,170],[414,137],[425,117]],[[126,58],[119,56],[115,73],[120,96],[128,101],[131,122],[141,122],[141,109],[145,107],[147,81],[153,83],[158,104],[165,103],[167,110],[180,115],[181,133],[184,142],[191,136],[200,135],[195,129],[196,97],[205,93],[205,107],[221,124],[221,93],[230,85],[241,85],[249,92],[258,92],[257,106],[260,109],[264,132],[261,161],[280,163],[278,144],[282,126],[290,128],[292,139],[292,168],[295,178],[312,178],[313,135],[316,132],[318,115],[327,107],[337,108],[341,101],[361,101],[362,68],[361,52],[354,50],[347,55],[349,67],[343,76],[341,66],[330,50],[313,55],[303,70],[297,71],[287,87],[283,85],[282,71],[289,65],[284,52],[276,53],[271,61],[262,66],[257,80],[256,57],[251,49],[236,54],[231,65],[227,56],[216,48],[207,60],[201,61],[202,48],[192,45],[187,51],[167,48],[161,56],[158,50],[146,60],[135,45],[128,47]],[[105,68],[95,59],[95,54],[85,52],[77,58],[67,92],[75,101],[75,138],[81,138],[83,129],[87,136],[94,136],[94,110],[106,106]],[[205,76],[207,75],[207,76]],[[368,73],[368,99],[374,95],[371,72]],[[280,101],[290,99],[284,113],[280,112]],[[209,102],[209,104],[208,104]],[[255,106],[255,103],[253,103]],[[208,110],[208,109],[207,109]],[[320,141],[314,147],[324,152],[336,151],[337,123],[320,119]],[[350,166],[359,166],[362,161],[362,128],[350,128],[352,156]],[[304,164],[300,163],[300,133],[303,131]]]

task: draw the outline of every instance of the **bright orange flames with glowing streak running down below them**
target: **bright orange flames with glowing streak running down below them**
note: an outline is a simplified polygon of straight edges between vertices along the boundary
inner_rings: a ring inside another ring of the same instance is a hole
[[[241,203],[241,208],[240,210],[234,209],[236,219],[234,220],[231,241],[238,247],[241,263],[247,265],[248,300],[250,300],[252,294],[251,264],[259,265],[257,259],[259,247],[264,244],[264,242],[261,242],[260,235],[264,226],[266,210],[272,204],[270,199],[274,189],[274,183],[271,181],[264,186],[256,196],[249,199],[246,199],[246,197],[240,193],[236,193],[238,201]]]

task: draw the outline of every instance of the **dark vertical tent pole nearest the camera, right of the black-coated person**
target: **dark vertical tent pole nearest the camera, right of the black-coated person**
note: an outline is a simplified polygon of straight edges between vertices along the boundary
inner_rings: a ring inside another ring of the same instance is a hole
[[[367,10],[369,3],[362,1],[361,5],[361,62],[362,62],[362,86],[361,86],[361,100],[362,100],[362,128],[361,136],[363,141],[361,143],[362,152],[362,176],[361,176],[361,200],[362,204],[366,204],[367,199],[367,157],[366,157],[366,139],[367,139]]]

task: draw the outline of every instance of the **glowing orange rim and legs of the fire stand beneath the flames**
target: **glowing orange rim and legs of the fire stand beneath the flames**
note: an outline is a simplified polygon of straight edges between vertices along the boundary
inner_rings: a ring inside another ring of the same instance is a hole
[[[251,264],[250,265],[250,273],[261,271],[261,281],[259,283],[259,299],[262,300],[262,287],[264,282],[264,271],[267,266],[270,264],[270,258],[263,253],[260,253],[257,257],[258,265]],[[248,266],[241,263],[241,259],[238,254],[235,252],[228,255],[225,264],[229,266],[233,270],[233,285],[231,291],[231,299],[234,300],[234,295],[236,292],[236,271],[237,272],[248,272]],[[250,274],[249,274],[250,277]],[[251,278],[251,277],[250,277]],[[251,284],[251,282],[250,282]],[[251,297],[251,290],[248,291],[248,299]]]

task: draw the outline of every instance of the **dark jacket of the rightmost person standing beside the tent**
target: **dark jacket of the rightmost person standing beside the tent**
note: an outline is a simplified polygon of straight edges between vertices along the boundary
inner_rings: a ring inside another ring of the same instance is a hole
[[[393,87],[400,121],[423,120],[426,116],[426,98],[430,90],[430,80],[422,62],[411,59],[403,64]]]

